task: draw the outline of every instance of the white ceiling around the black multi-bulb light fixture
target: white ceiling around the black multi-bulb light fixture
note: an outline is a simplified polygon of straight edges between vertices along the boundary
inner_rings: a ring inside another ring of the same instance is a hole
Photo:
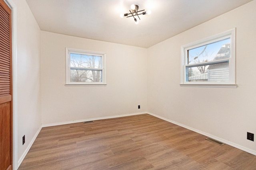
[[[43,31],[148,48],[252,0],[26,1]],[[120,18],[131,4],[152,14]]]

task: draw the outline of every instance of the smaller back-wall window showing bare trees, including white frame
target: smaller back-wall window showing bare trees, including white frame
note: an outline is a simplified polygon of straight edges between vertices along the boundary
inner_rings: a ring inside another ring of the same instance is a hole
[[[106,53],[66,48],[66,84],[106,84]]]

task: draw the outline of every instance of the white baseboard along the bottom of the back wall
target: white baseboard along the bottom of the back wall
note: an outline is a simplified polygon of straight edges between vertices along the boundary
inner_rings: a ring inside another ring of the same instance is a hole
[[[70,124],[70,123],[80,123],[80,122],[84,122],[84,121],[95,121],[95,120],[102,120],[102,119],[112,119],[112,118],[117,118],[117,117],[141,115],[141,114],[146,114],[146,113],[147,112],[139,112],[139,113],[130,113],[130,114],[125,114],[125,115],[115,115],[115,116],[97,117],[97,118],[91,118],[91,119],[81,119],[81,120],[76,120],[76,121],[66,121],[66,122],[60,122],[60,123],[50,123],[50,124],[42,125],[42,127],[66,125],[66,124]]]

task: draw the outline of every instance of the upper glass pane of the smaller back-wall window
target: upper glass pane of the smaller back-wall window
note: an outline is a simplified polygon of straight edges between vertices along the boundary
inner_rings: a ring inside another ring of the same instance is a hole
[[[102,68],[102,57],[70,53],[70,67]]]

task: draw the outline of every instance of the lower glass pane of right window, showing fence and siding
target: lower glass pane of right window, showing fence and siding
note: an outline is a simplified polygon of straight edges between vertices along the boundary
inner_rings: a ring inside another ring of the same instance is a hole
[[[224,63],[187,67],[188,82],[228,82],[228,61]]]

